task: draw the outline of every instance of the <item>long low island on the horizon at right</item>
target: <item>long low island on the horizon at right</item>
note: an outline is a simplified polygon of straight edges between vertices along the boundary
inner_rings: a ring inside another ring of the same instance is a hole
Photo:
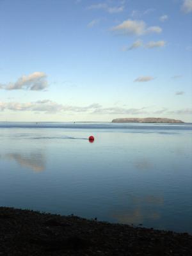
[[[181,120],[175,120],[170,118],[116,118],[112,120],[112,123],[170,123],[170,124],[184,124]]]

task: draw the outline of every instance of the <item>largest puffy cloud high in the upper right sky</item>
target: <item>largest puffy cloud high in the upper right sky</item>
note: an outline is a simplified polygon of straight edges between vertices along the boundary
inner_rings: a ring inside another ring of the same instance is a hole
[[[147,33],[161,33],[162,29],[158,26],[148,27],[143,20],[124,20],[118,26],[111,29],[124,35],[145,35]]]

